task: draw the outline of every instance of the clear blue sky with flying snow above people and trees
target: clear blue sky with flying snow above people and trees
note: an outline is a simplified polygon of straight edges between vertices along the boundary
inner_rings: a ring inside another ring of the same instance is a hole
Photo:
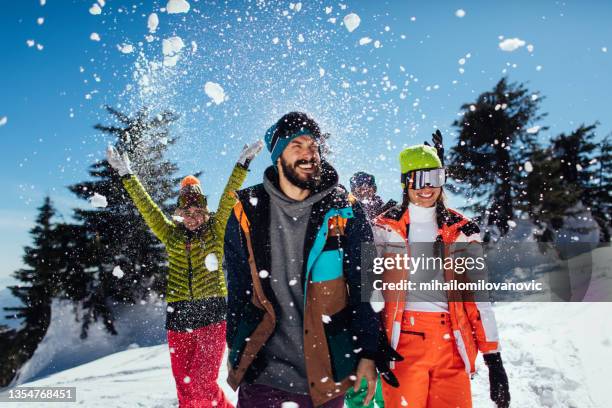
[[[113,0],[92,15],[93,0],[0,0],[0,123],[7,118],[0,126],[0,289],[21,263],[44,195],[65,219],[84,205],[66,186],[103,157],[108,140],[92,126],[108,123],[104,104],[180,113],[170,157],[183,174],[203,170],[213,199],[240,147],[293,109],[332,133],[344,183],[357,170],[373,172],[385,199],[399,195],[401,147],[436,127],[450,145],[461,104],[503,75],[546,97],[549,115],[540,125],[550,130],[542,140],[596,120],[598,137],[612,131],[608,1],[189,3],[188,13],[167,14],[166,0]],[[153,12],[160,23],[149,34]],[[349,13],[361,19],[353,32],[342,25]],[[100,41],[90,39],[94,32]],[[176,66],[164,67],[162,40],[173,36],[185,47]],[[525,45],[502,51],[500,36]],[[365,37],[372,41],[360,45]],[[133,52],[118,49],[125,44]],[[208,81],[227,100],[211,103]],[[247,183],[258,182],[268,164],[264,152]]]

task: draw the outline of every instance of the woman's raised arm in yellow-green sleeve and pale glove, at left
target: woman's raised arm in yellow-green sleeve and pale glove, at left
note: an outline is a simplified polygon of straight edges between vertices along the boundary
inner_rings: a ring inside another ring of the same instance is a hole
[[[106,151],[106,158],[113,169],[121,176],[121,181],[126,191],[132,198],[134,205],[142,215],[153,234],[163,243],[174,228],[164,212],[155,204],[151,196],[147,193],[138,177],[132,173],[130,160],[127,154],[119,155],[114,147],[109,146]]]

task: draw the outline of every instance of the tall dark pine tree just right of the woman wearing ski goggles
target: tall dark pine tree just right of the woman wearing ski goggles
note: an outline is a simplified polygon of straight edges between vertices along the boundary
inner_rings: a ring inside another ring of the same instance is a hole
[[[502,78],[492,91],[464,104],[462,118],[453,123],[459,130],[449,156],[455,190],[469,197],[467,209],[502,235],[525,194],[518,169],[537,146],[537,133],[546,129],[532,126],[545,116],[538,113],[542,99],[525,85]]]

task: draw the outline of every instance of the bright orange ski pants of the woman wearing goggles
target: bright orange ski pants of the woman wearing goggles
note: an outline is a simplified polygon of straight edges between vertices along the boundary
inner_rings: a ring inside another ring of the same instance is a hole
[[[383,382],[387,407],[471,408],[470,378],[450,326],[450,314],[406,310],[393,373],[400,382]]]

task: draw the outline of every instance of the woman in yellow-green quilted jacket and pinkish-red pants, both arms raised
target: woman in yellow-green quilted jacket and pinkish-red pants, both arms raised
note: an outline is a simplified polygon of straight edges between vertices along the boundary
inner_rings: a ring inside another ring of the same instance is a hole
[[[127,154],[107,150],[109,164],[155,236],[168,252],[166,329],[172,374],[179,406],[232,407],[217,385],[225,348],[227,288],[221,269],[225,224],[236,202],[233,194],[247,175],[250,161],[261,150],[258,141],[245,146],[229,178],[217,212],[210,213],[200,181],[181,182],[172,219],[153,202],[133,174]]]

